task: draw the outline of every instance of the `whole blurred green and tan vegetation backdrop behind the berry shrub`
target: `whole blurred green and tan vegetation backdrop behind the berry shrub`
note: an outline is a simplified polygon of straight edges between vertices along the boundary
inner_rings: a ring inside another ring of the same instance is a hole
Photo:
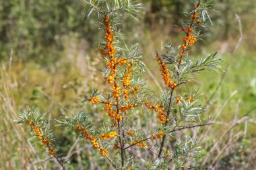
[[[140,22],[123,16],[121,28],[129,46],[139,42],[148,67],[143,76],[152,93],[157,94],[163,85],[155,69],[155,50],[168,42],[181,44],[182,35],[172,24],[179,23],[193,1],[141,3],[145,14]],[[210,30],[189,56],[218,51],[226,72],[205,73],[191,82],[204,93],[204,116],[211,116],[216,122],[212,127],[197,129],[203,151],[193,166],[256,169],[256,1],[216,0],[214,8]],[[75,135],[53,126],[54,118],[79,110],[92,113],[95,122],[106,118],[95,114],[95,110],[100,113],[100,108],[80,103],[81,95],[90,87],[106,88],[98,71],[102,65],[95,47],[102,33],[96,16],[85,23],[85,12],[84,3],[79,0],[0,1],[0,169],[55,167],[46,161],[46,153],[26,132],[28,128],[13,121],[19,110],[28,106],[46,112],[60,151],[63,156],[69,152],[69,169],[108,169],[104,159],[98,159],[98,153],[88,149],[90,146],[84,141],[77,142]],[[139,123],[142,124],[138,119]]]

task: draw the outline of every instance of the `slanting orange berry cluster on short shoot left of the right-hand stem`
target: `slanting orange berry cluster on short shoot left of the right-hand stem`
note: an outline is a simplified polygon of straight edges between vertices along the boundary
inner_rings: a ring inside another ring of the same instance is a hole
[[[164,79],[164,83],[168,85],[168,87],[171,87],[172,89],[174,89],[177,86],[177,84],[172,82],[172,79],[170,78],[170,75],[169,75],[169,71],[165,63],[161,60],[161,56],[156,56],[156,60],[160,65],[159,69],[162,72],[162,78]]]

